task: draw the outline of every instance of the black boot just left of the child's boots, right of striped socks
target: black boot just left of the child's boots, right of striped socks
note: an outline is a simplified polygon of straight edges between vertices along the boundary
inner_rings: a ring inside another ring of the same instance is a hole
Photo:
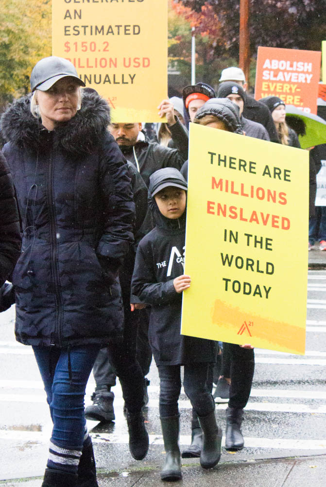
[[[129,450],[135,460],[145,458],[149,447],[149,437],[141,412],[127,411],[127,425],[129,431]]]

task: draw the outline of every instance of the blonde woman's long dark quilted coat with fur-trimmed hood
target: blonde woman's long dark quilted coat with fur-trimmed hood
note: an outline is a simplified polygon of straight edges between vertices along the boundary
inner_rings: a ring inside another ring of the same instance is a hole
[[[12,277],[22,343],[104,344],[122,335],[116,275],[133,242],[134,203],[109,121],[96,93],[54,131],[32,116],[28,96],[2,117],[23,225]]]

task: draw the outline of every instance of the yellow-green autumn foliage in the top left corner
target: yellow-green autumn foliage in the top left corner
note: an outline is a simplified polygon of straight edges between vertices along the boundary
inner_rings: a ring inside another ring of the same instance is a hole
[[[1,0],[0,111],[28,93],[34,64],[51,56],[51,0]]]

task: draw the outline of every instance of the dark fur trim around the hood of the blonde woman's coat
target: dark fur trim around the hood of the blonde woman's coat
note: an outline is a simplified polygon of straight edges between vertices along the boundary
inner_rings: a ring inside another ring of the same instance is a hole
[[[24,149],[40,148],[40,119],[30,111],[31,94],[16,100],[1,117],[1,135],[8,142]],[[110,124],[110,107],[94,91],[85,90],[82,108],[69,122],[55,130],[55,141],[64,152],[78,156],[90,153],[96,147]]]

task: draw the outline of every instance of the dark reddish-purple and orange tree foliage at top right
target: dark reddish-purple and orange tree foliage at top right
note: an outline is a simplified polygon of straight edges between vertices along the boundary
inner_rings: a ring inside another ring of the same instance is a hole
[[[173,0],[200,15],[203,7],[219,22],[219,45],[239,51],[240,0]],[[326,0],[250,0],[250,46],[320,50],[325,39]],[[222,39],[222,41],[221,41]]]

